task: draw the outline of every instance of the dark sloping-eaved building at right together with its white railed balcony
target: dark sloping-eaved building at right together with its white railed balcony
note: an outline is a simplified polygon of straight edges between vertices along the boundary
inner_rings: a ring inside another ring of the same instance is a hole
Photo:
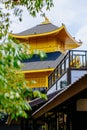
[[[32,130],[87,129],[87,51],[69,51],[48,83],[48,101],[31,102]]]

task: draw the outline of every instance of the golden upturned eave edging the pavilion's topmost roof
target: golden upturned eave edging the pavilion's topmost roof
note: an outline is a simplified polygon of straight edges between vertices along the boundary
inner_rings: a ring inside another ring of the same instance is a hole
[[[60,28],[57,28],[50,32],[40,33],[40,34],[29,34],[29,35],[16,35],[16,34],[9,34],[11,37],[18,38],[18,39],[32,39],[38,37],[47,37],[47,36],[56,36],[60,39],[61,42],[65,44],[72,45],[72,49],[81,46],[79,42],[77,42],[67,31],[65,25],[62,25]]]

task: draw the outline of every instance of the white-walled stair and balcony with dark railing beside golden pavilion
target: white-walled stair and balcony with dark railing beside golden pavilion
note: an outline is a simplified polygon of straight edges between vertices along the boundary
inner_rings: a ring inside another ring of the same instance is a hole
[[[47,93],[66,87],[85,73],[87,73],[87,51],[68,51],[48,77]]]

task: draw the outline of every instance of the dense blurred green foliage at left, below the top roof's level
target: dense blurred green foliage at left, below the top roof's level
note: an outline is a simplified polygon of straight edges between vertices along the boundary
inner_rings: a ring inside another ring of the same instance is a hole
[[[27,99],[45,98],[46,95],[33,91],[21,72],[21,60],[30,57],[29,48],[8,41],[0,45],[0,112],[11,119],[27,118],[31,107]]]

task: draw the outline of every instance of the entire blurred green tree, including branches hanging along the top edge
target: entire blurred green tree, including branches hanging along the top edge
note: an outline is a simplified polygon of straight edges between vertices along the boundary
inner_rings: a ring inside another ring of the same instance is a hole
[[[19,44],[16,39],[9,37],[10,13],[14,9],[15,15],[21,20],[22,10],[19,6],[25,6],[30,15],[36,16],[38,12],[44,14],[42,8],[50,9],[52,0],[2,0],[1,4],[6,8],[0,11],[0,113],[8,114],[12,119],[18,117],[27,118],[27,111],[31,110],[28,98],[47,98],[39,91],[33,91],[27,86],[27,81],[21,72],[21,61],[31,58],[29,47]],[[37,51],[44,56],[43,52]],[[15,105],[16,104],[16,105]]]

